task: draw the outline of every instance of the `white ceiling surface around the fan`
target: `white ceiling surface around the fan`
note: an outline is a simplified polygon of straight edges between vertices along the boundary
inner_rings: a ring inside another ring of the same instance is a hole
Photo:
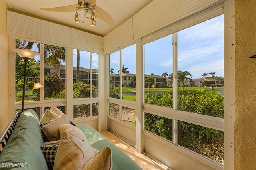
[[[99,6],[112,16],[115,24],[114,28],[116,28],[144,8],[144,6],[149,4],[151,1],[152,0],[96,0],[96,6]],[[75,23],[75,12],[50,12],[40,10],[40,8],[52,8],[78,4],[77,0],[7,0],[7,3],[9,8],[14,8],[16,10],[54,20],[101,36],[105,36],[114,30],[114,28],[111,28],[108,24],[97,18],[95,27],[91,27],[91,20],[85,17],[84,23],[82,23],[82,11],[79,12],[81,13],[79,16],[80,22]]]

